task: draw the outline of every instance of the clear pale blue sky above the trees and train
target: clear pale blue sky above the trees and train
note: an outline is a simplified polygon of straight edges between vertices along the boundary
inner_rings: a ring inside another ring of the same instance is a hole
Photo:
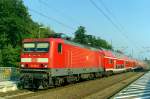
[[[34,21],[58,33],[73,36],[82,25],[114,49],[150,59],[150,0],[23,1]]]

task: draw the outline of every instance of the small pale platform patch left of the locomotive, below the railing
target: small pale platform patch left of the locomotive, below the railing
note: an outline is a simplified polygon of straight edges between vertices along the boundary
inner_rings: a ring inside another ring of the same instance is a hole
[[[17,90],[17,82],[15,81],[0,81],[0,92],[8,92]]]

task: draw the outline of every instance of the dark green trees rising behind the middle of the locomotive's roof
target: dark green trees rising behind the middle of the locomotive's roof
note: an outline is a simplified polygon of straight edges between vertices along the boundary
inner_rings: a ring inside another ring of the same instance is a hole
[[[87,35],[85,34],[85,32],[85,27],[79,26],[75,32],[74,41],[95,48],[112,49],[112,46],[106,40],[101,39],[99,37],[96,38],[93,35]]]

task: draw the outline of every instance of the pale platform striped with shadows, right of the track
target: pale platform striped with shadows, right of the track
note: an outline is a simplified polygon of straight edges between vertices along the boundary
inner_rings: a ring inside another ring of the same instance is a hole
[[[150,99],[150,71],[121,90],[112,99]]]

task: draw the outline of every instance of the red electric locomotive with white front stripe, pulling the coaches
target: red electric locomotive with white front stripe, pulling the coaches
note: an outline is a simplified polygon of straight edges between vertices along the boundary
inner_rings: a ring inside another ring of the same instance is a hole
[[[21,82],[38,88],[100,76],[104,72],[99,49],[61,38],[25,39],[21,53]],[[32,82],[31,82],[32,81]]]

